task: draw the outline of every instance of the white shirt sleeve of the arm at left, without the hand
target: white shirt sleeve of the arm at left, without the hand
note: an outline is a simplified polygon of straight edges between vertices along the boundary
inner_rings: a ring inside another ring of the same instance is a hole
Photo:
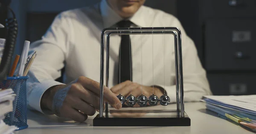
[[[29,53],[37,52],[29,70],[27,81],[27,100],[29,108],[42,112],[40,100],[44,92],[61,83],[54,81],[61,76],[61,69],[67,57],[70,42],[69,20],[63,14],[55,17],[52,25],[41,40],[30,45]]]

